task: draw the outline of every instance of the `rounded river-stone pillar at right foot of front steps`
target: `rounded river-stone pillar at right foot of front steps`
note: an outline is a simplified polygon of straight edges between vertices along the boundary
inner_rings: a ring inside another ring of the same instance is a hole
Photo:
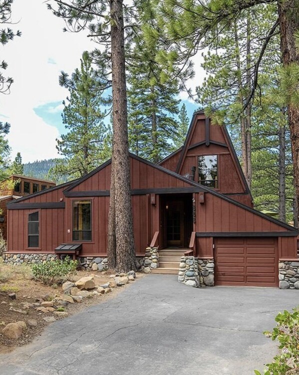
[[[199,287],[198,259],[195,256],[181,256],[177,281]]]

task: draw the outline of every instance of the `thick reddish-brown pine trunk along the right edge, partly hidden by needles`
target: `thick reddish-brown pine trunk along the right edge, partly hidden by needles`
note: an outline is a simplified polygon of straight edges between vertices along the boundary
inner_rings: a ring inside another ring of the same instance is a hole
[[[296,51],[295,31],[299,29],[299,1],[279,0],[278,14],[280,26],[280,48],[283,65],[299,63]],[[299,207],[299,108],[294,104],[288,105],[288,123],[294,168],[295,205],[298,215]],[[298,217],[297,217],[298,222]]]

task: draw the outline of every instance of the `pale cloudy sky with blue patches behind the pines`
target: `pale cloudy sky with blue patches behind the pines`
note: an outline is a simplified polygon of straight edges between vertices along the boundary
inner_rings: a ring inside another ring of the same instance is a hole
[[[10,93],[0,94],[0,121],[11,125],[11,159],[17,152],[23,162],[54,158],[56,138],[65,131],[61,111],[68,93],[59,86],[58,76],[61,70],[71,74],[82,52],[95,44],[84,31],[63,32],[63,19],[54,16],[44,0],[14,0],[12,21],[11,27],[22,35],[0,47],[1,60],[8,63],[4,73],[14,80]],[[195,61],[195,78],[187,82],[193,91],[201,81],[199,65]],[[190,118],[197,105],[185,93],[181,99]]]

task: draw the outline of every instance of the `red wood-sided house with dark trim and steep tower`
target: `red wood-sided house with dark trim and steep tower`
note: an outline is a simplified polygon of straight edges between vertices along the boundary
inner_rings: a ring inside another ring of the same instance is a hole
[[[6,260],[16,253],[42,259],[63,243],[70,252],[77,245],[85,266],[104,258],[110,163],[8,203]],[[278,286],[278,274],[280,283],[293,279],[279,273],[278,263],[299,264],[298,231],[252,208],[225,127],[211,125],[202,111],[194,113],[184,146],[160,165],[130,154],[130,178],[138,264],[149,244],[158,245],[153,271],[177,273],[180,255],[191,247],[207,284]]]

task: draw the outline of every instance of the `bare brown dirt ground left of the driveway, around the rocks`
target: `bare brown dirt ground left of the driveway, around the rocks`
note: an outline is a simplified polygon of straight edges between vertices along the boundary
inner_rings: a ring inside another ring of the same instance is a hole
[[[112,279],[109,278],[109,275],[112,273],[112,271],[95,272],[79,270],[75,275],[71,276],[70,280],[76,281],[83,276],[93,274],[95,284],[99,286],[111,281]],[[143,274],[137,273],[136,279],[142,276]],[[88,298],[83,298],[80,303],[69,303],[65,306],[65,311],[69,316],[86,309],[90,305],[113,298],[132,282],[135,281],[129,281],[123,286],[110,288],[110,292],[108,293],[90,295]],[[15,293],[15,299],[9,296],[11,293]],[[10,352],[16,346],[21,346],[32,341],[50,323],[47,320],[54,320],[53,312],[36,311],[36,307],[44,300],[45,295],[49,296],[49,298],[45,299],[63,295],[61,285],[47,286],[35,281],[32,279],[30,267],[28,266],[7,266],[0,263],[0,353]],[[36,305],[32,306],[33,303]],[[55,317],[55,319],[59,318],[61,317]],[[36,325],[28,324],[28,320],[32,319],[36,321]],[[19,320],[23,320],[27,324],[27,329],[21,337],[18,339],[9,339],[1,333],[7,323]]]

